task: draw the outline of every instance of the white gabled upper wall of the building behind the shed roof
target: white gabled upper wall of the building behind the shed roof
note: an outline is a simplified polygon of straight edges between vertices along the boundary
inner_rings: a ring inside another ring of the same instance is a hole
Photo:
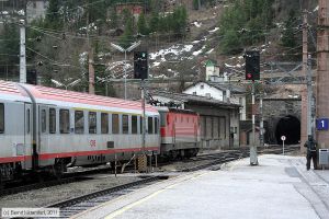
[[[206,83],[197,83],[194,87],[188,88],[183,93],[198,96],[211,96],[212,99],[224,101],[223,91],[209,87]]]

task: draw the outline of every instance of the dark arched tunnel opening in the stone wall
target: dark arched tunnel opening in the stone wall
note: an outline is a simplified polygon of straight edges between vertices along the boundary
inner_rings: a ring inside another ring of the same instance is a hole
[[[281,118],[276,125],[275,138],[277,143],[282,143],[281,136],[285,136],[286,145],[297,145],[300,141],[300,122],[294,116]]]

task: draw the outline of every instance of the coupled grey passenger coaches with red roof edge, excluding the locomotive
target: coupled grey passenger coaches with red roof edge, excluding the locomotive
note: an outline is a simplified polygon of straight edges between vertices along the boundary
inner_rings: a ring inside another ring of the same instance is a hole
[[[129,159],[141,147],[139,102],[0,81],[0,180]],[[145,150],[160,150],[159,113],[146,105]]]

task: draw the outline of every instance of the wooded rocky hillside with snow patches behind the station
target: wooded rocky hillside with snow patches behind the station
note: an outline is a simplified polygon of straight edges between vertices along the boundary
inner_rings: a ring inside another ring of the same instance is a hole
[[[132,16],[127,10],[118,13],[113,3],[115,1],[106,2],[110,1],[86,1],[82,4],[77,1],[50,0],[45,20],[27,25],[29,69],[36,70],[44,84],[58,85],[50,79],[64,84],[82,79],[72,89],[86,91],[88,54],[91,48],[97,92],[105,94],[107,88],[107,94],[110,89],[111,95],[121,95],[121,91],[114,92],[111,85],[106,87],[107,83],[113,84],[112,82],[124,76],[124,54],[111,47],[111,43],[124,45],[137,41],[141,42],[138,49],[149,53],[149,78],[180,81],[174,90],[182,89],[186,82],[203,80],[204,65],[208,59],[214,60],[220,71],[227,72],[234,81],[239,81],[245,76],[243,49],[257,48],[261,51],[263,71],[270,69],[268,64],[271,61],[300,59],[300,11],[304,8],[309,11],[309,42],[311,42],[310,49],[315,50],[316,42],[313,41],[317,15],[315,0],[201,0],[201,7],[193,0],[149,0],[144,1],[147,2],[147,7],[143,9],[144,22],[140,16],[139,19]],[[251,2],[250,9],[246,11],[245,7],[238,13],[237,2],[245,4]],[[263,2],[269,4],[265,5]],[[185,11],[180,10],[180,7]],[[254,9],[258,10],[253,12]],[[240,18],[241,14],[245,15]],[[271,19],[271,22],[260,19],[262,14]],[[236,19],[237,16],[239,19]],[[182,21],[181,18],[186,20]],[[224,20],[227,22],[225,25]],[[253,33],[250,34],[251,32]],[[5,50],[9,45],[18,45],[16,25],[5,24],[4,33],[5,37],[12,41],[0,42],[1,50]],[[293,41],[283,42],[282,38]],[[223,42],[228,42],[226,44],[228,49],[223,49]],[[11,46],[7,51],[18,54],[15,49],[16,46]],[[2,56],[0,59],[4,60]],[[14,57],[7,58],[4,62],[14,66],[12,62],[19,61]],[[16,66],[12,68],[8,66],[7,69],[1,67],[2,78],[5,77],[5,71],[18,74]],[[127,53],[125,69],[127,78],[132,78],[132,53]]]

